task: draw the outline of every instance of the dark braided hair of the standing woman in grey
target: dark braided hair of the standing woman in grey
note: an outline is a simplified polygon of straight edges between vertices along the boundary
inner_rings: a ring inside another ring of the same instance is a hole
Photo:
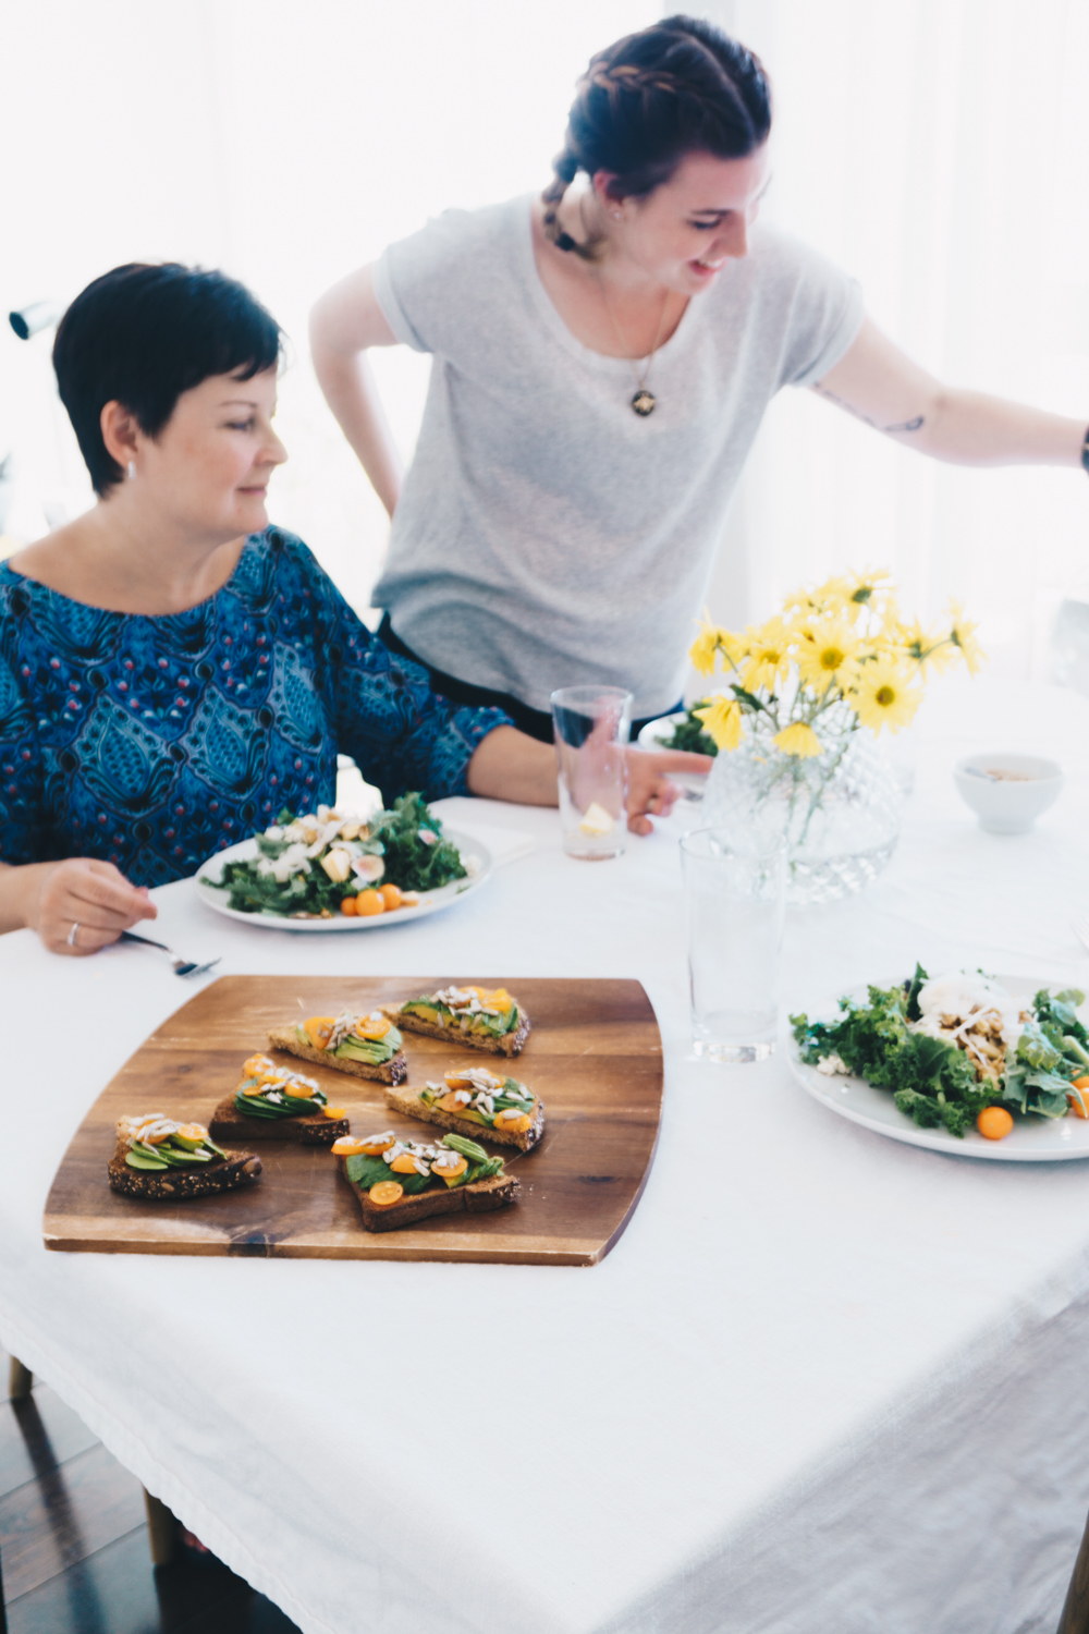
[[[713,23],[669,16],[589,59],[567,123],[555,176],[542,193],[545,237],[588,260],[557,211],[580,170],[609,170],[616,199],[645,198],[686,154],[745,158],[771,129],[771,87],[759,57]]]

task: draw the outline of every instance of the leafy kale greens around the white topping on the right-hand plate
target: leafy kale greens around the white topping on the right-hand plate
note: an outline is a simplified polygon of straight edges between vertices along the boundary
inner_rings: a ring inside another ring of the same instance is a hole
[[[916,966],[914,975],[898,987],[867,989],[865,1005],[841,998],[836,1021],[790,1016],[802,1060],[820,1065],[833,1059],[831,1070],[839,1070],[838,1057],[854,1077],[890,1090],[900,1111],[921,1129],[942,1126],[957,1137],[963,1137],[985,1106],[1066,1116],[1071,1093],[1079,1095],[1071,1083],[1089,1069],[1089,1033],[1076,1015],[1084,993],[1042,989],[1027,1010],[1012,1057],[1007,1051],[1002,1070],[991,1078],[980,1077],[957,1044],[914,1029],[926,980],[926,971]]]

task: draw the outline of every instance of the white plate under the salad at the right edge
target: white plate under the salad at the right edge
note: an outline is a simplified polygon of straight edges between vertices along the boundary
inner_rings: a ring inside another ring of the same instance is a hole
[[[896,977],[872,985],[893,987],[895,980]],[[996,980],[1022,1003],[1038,993],[1042,987],[1056,992],[1061,992],[1063,987],[1061,982],[1033,982],[1024,975],[998,975]],[[851,998],[864,1002],[865,987],[852,992]],[[831,1021],[839,1015],[839,1002],[836,998],[825,1000],[807,1010],[807,1015],[810,1021]],[[829,1106],[841,1118],[860,1123],[864,1129],[872,1129],[875,1134],[906,1141],[908,1145],[926,1145],[932,1152],[952,1152],[953,1157],[981,1157],[991,1163],[1061,1163],[1071,1157],[1089,1157],[1089,1119],[1086,1118],[1017,1118],[1004,1141],[985,1141],[978,1129],[970,1129],[963,1141],[958,1141],[949,1129],[919,1129],[901,1111],[896,1111],[896,1103],[888,1090],[875,1090],[862,1078],[842,1077],[842,1074],[829,1078],[816,1067],[807,1067],[792,1036],[787,1038],[787,1060],[795,1078],[821,1106]]]

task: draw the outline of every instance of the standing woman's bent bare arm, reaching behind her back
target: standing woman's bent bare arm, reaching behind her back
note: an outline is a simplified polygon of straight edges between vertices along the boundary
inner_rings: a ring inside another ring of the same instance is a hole
[[[395,345],[397,335],[374,294],[372,266],[333,284],[310,312],[310,353],[318,386],[390,516],[400,497],[403,467],[366,353],[371,346]]]

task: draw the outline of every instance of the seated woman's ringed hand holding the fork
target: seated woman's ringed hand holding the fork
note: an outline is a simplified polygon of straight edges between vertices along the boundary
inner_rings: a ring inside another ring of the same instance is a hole
[[[13,882],[15,874],[38,877]],[[26,891],[23,923],[36,930],[52,953],[70,953],[75,958],[98,953],[116,941],[122,930],[158,913],[145,887],[137,891],[113,863],[100,863],[90,856],[5,869],[3,884],[23,886]],[[69,940],[73,925],[78,930]]]

